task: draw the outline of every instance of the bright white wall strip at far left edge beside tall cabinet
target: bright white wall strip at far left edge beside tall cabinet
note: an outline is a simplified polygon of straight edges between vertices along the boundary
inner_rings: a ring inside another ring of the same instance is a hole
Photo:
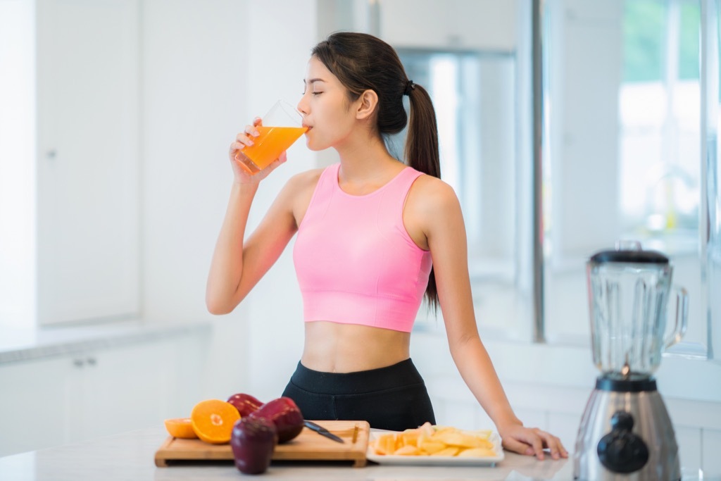
[[[11,327],[35,319],[34,51],[34,2],[0,0],[0,325]]]

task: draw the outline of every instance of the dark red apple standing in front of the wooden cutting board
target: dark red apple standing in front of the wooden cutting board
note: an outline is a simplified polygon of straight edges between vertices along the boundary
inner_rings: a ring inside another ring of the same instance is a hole
[[[278,444],[278,431],[272,420],[240,418],[233,425],[230,437],[235,467],[246,475],[260,475],[270,466],[275,444]]]

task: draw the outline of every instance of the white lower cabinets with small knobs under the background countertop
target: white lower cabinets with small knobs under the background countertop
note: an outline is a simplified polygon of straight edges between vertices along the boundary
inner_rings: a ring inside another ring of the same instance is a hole
[[[199,336],[0,364],[0,456],[190,415],[203,369]]]

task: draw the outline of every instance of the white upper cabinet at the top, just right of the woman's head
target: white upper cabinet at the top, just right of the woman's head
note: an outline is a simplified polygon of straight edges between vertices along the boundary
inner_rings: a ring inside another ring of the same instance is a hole
[[[381,37],[394,47],[516,49],[514,0],[379,2]]]

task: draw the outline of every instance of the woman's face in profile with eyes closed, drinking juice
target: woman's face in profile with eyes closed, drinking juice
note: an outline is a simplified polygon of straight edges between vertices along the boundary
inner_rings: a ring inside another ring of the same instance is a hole
[[[355,102],[348,99],[348,90],[315,56],[308,61],[304,86],[298,110],[309,127],[306,145],[314,151],[342,146],[356,125]]]

